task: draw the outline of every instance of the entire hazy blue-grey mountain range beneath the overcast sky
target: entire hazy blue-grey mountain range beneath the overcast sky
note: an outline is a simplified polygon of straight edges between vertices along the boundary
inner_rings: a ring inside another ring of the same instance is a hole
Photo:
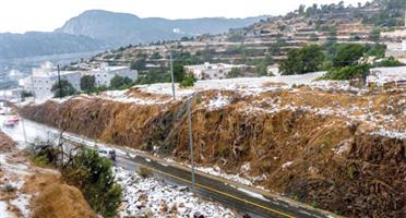
[[[129,44],[218,34],[266,16],[248,19],[140,19],[128,13],[85,11],[55,32],[0,34],[0,59],[88,52]]]

